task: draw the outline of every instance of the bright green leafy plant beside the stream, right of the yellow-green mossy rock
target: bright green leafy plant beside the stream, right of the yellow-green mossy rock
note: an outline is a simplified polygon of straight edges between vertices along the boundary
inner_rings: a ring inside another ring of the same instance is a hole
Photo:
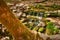
[[[47,22],[47,27],[46,29],[48,29],[50,31],[50,34],[56,34],[59,33],[59,29],[55,27],[55,25],[52,22]]]

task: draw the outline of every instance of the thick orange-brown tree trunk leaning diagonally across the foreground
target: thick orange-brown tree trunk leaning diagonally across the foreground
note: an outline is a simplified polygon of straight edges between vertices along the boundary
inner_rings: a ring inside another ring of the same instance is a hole
[[[12,13],[3,0],[0,0],[0,22],[13,35],[14,40],[43,40],[22,24]]]

